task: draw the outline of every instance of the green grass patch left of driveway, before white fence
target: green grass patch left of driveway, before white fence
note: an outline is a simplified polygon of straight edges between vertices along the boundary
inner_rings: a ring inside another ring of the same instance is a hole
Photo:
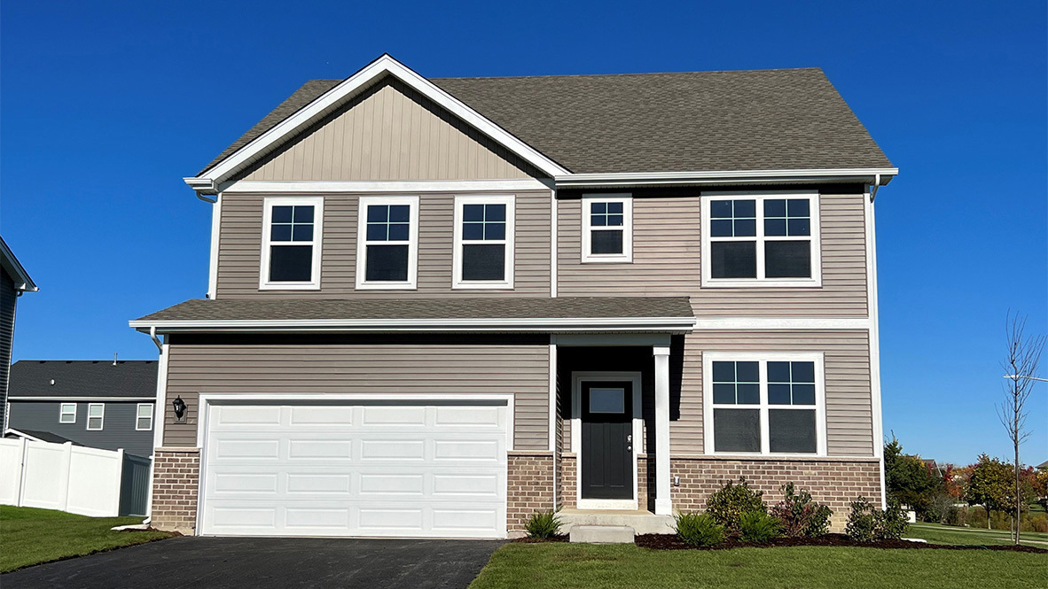
[[[113,531],[141,518],[88,518],[0,505],[0,572],[169,538],[162,531]]]

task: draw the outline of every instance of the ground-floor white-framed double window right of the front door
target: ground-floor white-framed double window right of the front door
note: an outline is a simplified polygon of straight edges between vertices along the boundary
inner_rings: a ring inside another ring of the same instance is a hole
[[[826,454],[822,354],[704,353],[706,452]]]

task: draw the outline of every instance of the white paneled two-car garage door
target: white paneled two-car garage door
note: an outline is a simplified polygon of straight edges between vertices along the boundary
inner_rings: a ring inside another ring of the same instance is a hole
[[[505,402],[211,404],[201,534],[504,538]]]

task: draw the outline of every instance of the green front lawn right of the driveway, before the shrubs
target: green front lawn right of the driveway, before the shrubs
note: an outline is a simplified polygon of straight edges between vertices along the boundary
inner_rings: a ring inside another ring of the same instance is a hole
[[[1048,554],[799,546],[651,550],[629,545],[499,548],[470,589],[1048,587]]]

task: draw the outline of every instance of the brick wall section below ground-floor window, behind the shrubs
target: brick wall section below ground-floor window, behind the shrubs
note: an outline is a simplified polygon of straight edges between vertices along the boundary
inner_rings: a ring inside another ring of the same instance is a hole
[[[880,463],[874,459],[816,460],[723,460],[712,458],[672,458],[671,476],[680,477],[680,486],[671,488],[674,511],[697,512],[705,508],[709,495],[726,481],[745,477],[754,489],[764,492],[764,502],[771,506],[782,499],[780,486],[792,482],[811,493],[812,498],[833,509],[831,527],[844,529],[849,503],[858,496],[880,503]]]

